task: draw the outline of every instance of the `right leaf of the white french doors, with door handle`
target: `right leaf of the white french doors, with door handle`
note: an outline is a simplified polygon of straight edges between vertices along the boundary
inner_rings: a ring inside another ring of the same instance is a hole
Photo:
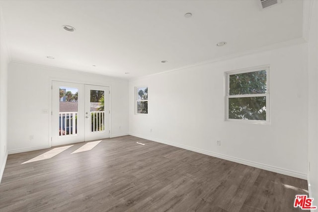
[[[109,87],[85,84],[85,141],[109,138]]]

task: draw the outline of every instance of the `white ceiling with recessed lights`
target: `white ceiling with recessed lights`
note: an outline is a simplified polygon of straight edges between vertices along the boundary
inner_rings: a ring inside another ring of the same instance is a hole
[[[258,0],[0,2],[12,61],[123,78],[303,36],[302,0],[282,0],[263,10]],[[191,18],[184,17],[187,12],[193,14]],[[76,31],[65,31],[64,24]],[[220,41],[227,45],[217,47]]]

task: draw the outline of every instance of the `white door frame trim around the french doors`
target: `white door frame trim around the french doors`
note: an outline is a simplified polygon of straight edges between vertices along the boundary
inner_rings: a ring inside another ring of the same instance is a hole
[[[111,132],[112,132],[112,98],[111,98],[111,85],[109,84],[95,84],[93,81],[81,81],[81,80],[70,80],[60,77],[49,77],[48,78],[48,116],[49,116],[49,123],[48,123],[48,147],[52,147],[52,131],[53,131],[53,119],[52,119],[52,82],[53,81],[61,81],[61,82],[71,82],[71,83],[79,83],[79,84],[88,84],[88,85],[97,85],[97,86],[105,86],[109,87],[109,138],[111,138]]]

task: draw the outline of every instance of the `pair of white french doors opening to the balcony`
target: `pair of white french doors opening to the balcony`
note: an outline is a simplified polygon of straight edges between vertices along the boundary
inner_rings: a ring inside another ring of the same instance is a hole
[[[52,146],[109,138],[109,87],[52,81]]]

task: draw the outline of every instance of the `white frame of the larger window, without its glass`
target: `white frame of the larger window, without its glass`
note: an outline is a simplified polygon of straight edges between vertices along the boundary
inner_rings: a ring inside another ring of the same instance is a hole
[[[254,71],[266,71],[266,93],[261,94],[240,94],[230,95],[230,75],[238,73],[248,73]],[[269,65],[252,67],[247,69],[240,69],[236,71],[227,71],[224,74],[225,81],[225,121],[240,122],[240,123],[253,123],[253,124],[270,124],[270,95],[269,95]],[[230,119],[229,118],[229,99],[230,98],[242,98],[242,97],[266,97],[266,120],[247,120],[247,119]]]

